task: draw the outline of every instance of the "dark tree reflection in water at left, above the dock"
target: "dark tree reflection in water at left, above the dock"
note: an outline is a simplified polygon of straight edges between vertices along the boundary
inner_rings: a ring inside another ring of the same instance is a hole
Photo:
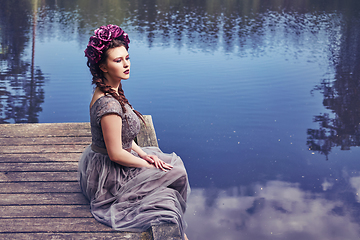
[[[0,5],[0,123],[38,122],[45,78],[34,63],[36,11],[25,0]],[[31,59],[24,58],[29,44]]]

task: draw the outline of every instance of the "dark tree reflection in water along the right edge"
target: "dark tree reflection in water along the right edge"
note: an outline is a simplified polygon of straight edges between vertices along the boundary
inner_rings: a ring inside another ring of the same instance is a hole
[[[355,8],[358,9],[358,8]],[[333,39],[331,62],[334,80],[323,79],[316,88],[324,95],[323,105],[332,114],[314,117],[319,129],[308,129],[307,145],[310,150],[326,156],[333,147],[349,150],[360,146],[360,19],[359,12],[344,16],[340,40]]]

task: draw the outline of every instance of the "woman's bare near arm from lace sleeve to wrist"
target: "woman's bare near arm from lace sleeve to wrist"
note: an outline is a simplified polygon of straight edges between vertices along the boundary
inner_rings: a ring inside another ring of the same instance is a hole
[[[110,160],[126,167],[154,167],[148,161],[135,157],[122,148],[122,119],[117,114],[107,114],[101,118],[101,129]],[[146,154],[145,154],[146,155]]]

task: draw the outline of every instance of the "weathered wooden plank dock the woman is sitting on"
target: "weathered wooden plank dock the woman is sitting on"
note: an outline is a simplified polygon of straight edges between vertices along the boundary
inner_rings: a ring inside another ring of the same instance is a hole
[[[138,144],[157,146],[151,116],[145,119]],[[181,239],[176,225],[119,232],[92,217],[77,181],[90,143],[89,123],[0,124],[0,238]]]

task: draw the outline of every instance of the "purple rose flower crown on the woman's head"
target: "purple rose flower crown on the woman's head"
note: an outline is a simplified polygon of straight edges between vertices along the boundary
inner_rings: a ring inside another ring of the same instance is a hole
[[[109,24],[107,26],[101,26],[94,31],[94,36],[90,37],[89,43],[84,51],[85,56],[91,63],[98,63],[103,54],[103,50],[109,46],[113,39],[124,41],[126,49],[129,48],[129,36],[119,26]]]

